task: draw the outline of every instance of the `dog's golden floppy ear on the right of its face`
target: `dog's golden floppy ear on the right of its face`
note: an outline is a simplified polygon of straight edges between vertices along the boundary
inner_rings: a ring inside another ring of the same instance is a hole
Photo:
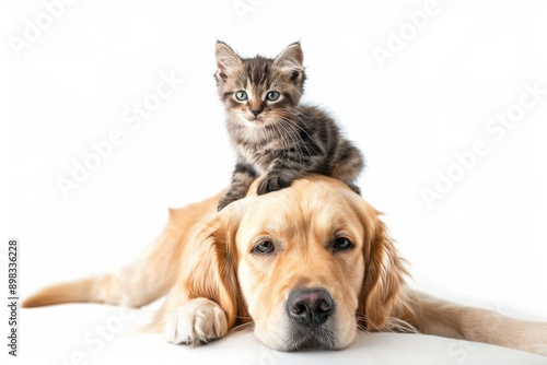
[[[364,280],[358,314],[360,325],[369,330],[381,330],[388,322],[394,306],[400,301],[407,271],[384,222],[379,219],[381,213],[362,202],[360,211],[365,231]]]

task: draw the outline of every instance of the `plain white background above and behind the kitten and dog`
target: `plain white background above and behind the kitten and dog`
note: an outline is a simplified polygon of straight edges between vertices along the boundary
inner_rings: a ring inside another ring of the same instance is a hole
[[[374,47],[388,50],[426,1],[75,1],[15,51],[10,39],[24,38],[44,3],[0,10],[1,237],[21,240],[23,296],[129,262],[167,207],[225,187],[234,153],[212,76],[216,39],[270,57],[300,39],[305,99],[363,150],[363,197],[386,213],[412,285],[547,319],[547,94],[499,141],[485,129],[524,84],[547,89],[545,2],[439,0],[383,67]],[[251,3],[246,13],[238,3]],[[171,73],[184,83],[131,129],[124,114]],[[113,130],[124,143],[65,197],[58,178]],[[420,190],[477,140],[488,154],[428,207]]]

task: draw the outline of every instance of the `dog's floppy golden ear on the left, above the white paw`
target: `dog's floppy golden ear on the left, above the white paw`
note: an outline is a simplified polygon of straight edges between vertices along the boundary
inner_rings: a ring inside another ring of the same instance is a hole
[[[186,268],[188,299],[203,297],[220,305],[232,328],[246,311],[237,283],[237,250],[235,234],[244,210],[244,201],[236,201],[201,227],[197,234],[198,250]]]

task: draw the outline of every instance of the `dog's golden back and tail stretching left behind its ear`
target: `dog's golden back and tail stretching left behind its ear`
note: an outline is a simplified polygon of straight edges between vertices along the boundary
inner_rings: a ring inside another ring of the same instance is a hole
[[[23,301],[23,307],[94,302],[138,308],[158,299],[174,285],[186,243],[199,232],[197,223],[216,212],[219,197],[171,209],[163,233],[124,269],[48,286]]]

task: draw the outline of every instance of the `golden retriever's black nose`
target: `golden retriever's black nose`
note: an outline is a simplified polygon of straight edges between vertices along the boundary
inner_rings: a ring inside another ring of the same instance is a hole
[[[287,310],[292,320],[316,327],[333,314],[333,297],[323,289],[294,290],[289,294]]]

